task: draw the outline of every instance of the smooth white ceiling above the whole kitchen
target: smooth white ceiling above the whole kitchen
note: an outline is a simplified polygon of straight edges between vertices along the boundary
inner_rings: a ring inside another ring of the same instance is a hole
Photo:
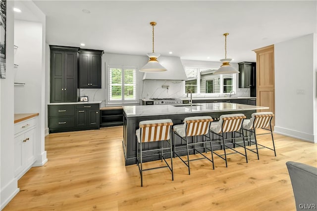
[[[253,49],[317,32],[317,1],[35,0],[46,14],[49,44],[181,59],[255,61]],[[90,13],[82,10],[88,9]],[[23,12],[23,11],[22,11]],[[294,49],[295,50],[295,49]],[[210,57],[209,59],[207,57]]]

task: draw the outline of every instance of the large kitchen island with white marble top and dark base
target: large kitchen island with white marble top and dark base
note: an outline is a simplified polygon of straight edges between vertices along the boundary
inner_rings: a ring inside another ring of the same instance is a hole
[[[190,105],[144,105],[144,106],[123,106],[123,151],[125,165],[136,164],[137,143],[135,130],[139,122],[145,120],[171,119],[174,125],[182,124],[186,117],[211,116],[214,121],[222,114],[243,113],[247,118],[256,110],[268,109],[263,106],[253,106],[238,103],[195,103]],[[176,144],[180,140],[176,139]],[[220,149],[220,145],[212,145],[214,150]],[[158,147],[158,143],[144,143],[146,149]],[[149,156],[145,161],[158,160],[159,155]]]

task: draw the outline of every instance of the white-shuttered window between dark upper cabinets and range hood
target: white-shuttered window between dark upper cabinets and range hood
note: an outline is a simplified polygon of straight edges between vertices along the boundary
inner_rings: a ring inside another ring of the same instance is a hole
[[[136,67],[108,67],[109,103],[133,103],[136,96]]]

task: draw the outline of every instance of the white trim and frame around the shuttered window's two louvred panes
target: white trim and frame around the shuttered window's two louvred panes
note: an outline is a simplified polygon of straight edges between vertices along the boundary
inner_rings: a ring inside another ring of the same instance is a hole
[[[121,100],[110,100],[110,69],[121,69]],[[135,73],[135,99],[125,99],[124,98],[124,70],[133,69]],[[138,68],[137,66],[127,66],[127,65],[108,65],[107,66],[107,104],[124,104],[124,103],[138,103]]]

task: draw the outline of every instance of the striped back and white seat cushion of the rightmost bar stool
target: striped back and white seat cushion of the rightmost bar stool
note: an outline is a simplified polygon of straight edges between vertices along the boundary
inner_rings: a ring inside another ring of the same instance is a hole
[[[245,129],[253,129],[253,125],[255,128],[264,128],[268,127],[271,119],[274,114],[272,112],[256,112],[251,115],[250,120],[246,120],[243,123],[243,128]]]

